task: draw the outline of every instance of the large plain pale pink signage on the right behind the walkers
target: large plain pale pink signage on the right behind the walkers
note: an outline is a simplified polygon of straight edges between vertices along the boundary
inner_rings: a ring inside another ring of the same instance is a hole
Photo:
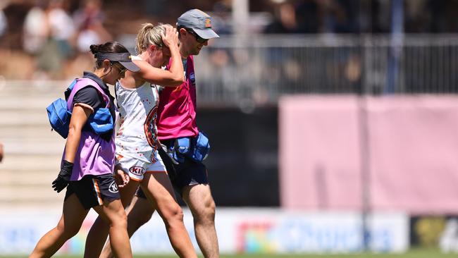
[[[280,101],[280,194],[290,209],[458,213],[458,97],[292,96]],[[368,137],[361,145],[361,109]],[[369,152],[361,153],[361,146]]]

